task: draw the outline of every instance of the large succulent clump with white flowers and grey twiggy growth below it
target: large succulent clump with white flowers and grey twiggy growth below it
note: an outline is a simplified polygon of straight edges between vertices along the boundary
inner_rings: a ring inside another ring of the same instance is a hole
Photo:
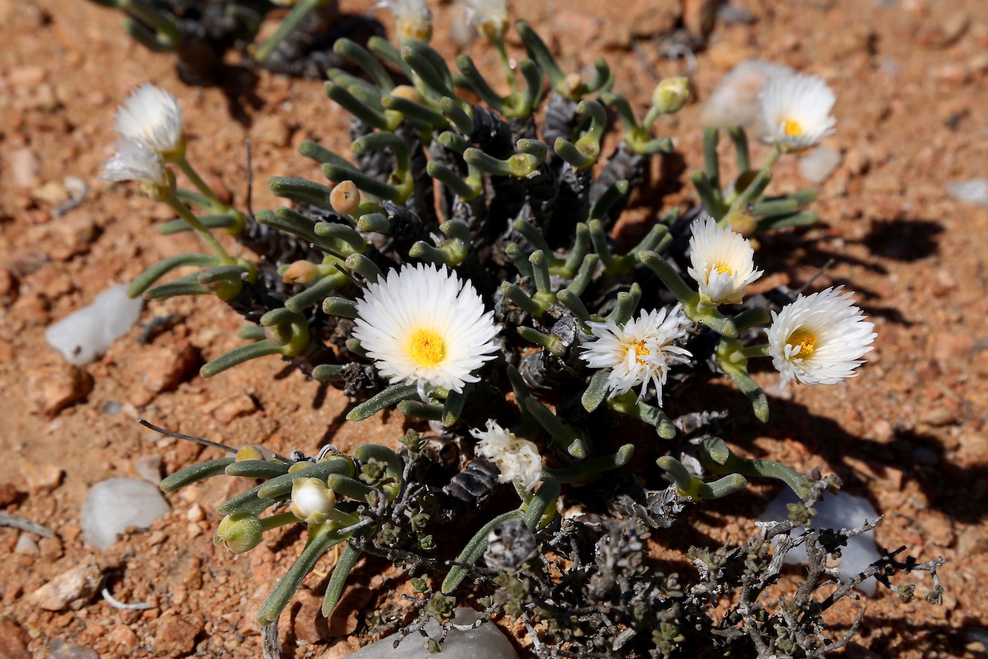
[[[544,657],[819,656],[854,632],[828,638],[824,617],[864,578],[896,588],[897,571],[927,571],[927,599],[939,601],[943,559],[917,564],[892,552],[837,585],[828,556],[877,520],[789,537],[836,479],[743,458],[720,436],[731,425],[722,403],[685,408],[710,400],[711,378],[727,376],[767,423],[750,360],[771,358],[782,386],[841,382],[864,363],[875,334],[850,293],[745,295],[762,274],[751,236],[816,221],[803,210],[813,191],[768,188],[780,157],[833,130],[833,92],[814,76],[770,81],[767,161],[753,166],[746,134],[731,130],[740,174],[721,180],[718,134],[707,130],[703,169],[692,176],[701,206],[650,218],[640,242],[622,244],[614,227],[630,191],[649,160],[672,148],[652,126],[686,104],[687,80],[662,81],[639,123],[603,58],[589,79],[564,73],[518,22],[529,56],[513,68],[504,7],[471,7],[500,55],[508,94],[468,55],[454,71],[428,46],[423,4],[393,3],[400,47],[379,38],[335,46],[362,72],[331,69],[326,83],[354,117],[353,157],[302,143],[330,184],[272,177],[269,187],[287,200],[273,211],[216,198],[186,158],[181,111],[167,92],[140,87],[118,113],[121,141],[105,176],[136,181],[169,204],[178,219],[162,233],[192,230],[207,247],[155,264],[130,294],[210,295],[249,322],[246,342],[203,375],[281,355],[341,388],[356,403],[351,422],[396,409],[421,430],[409,430],[400,451],[327,445],[307,458],[231,448],[235,455],[162,483],[172,491],[220,474],[263,481],[218,509],[226,517],[215,541],[233,552],[279,526],[306,524],[306,546],[261,623],[275,628],[336,545],[324,613],[370,553],[405,566],[421,595],[421,614],[403,633],[430,617],[452,624],[467,603],[520,618]],[[612,113],[620,140],[602,158]],[[174,169],[196,190],[177,187]],[[230,255],[218,230],[258,258]],[[648,543],[689,523],[681,518],[690,507],[715,505],[706,500],[748,478],[780,480],[802,503],[741,546],[692,549],[682,562],[699,577],[649,560]],[[805,580],[767,600],[796,545],[809,555]],[[897,590],[912,597],[911,586]]]

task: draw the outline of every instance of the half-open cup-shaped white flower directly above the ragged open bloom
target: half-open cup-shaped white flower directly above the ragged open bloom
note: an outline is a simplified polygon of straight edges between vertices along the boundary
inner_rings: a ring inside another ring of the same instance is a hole
[[[755,269],[755,250],[743,235],[721,229],[708,215],[690,227],[690,263],[687,272],[700,285],[700,302],[710,307],[736,305],[745,286],[762,276]]]

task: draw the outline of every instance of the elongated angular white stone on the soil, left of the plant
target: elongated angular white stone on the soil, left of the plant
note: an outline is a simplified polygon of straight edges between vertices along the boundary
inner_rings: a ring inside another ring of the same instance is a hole
[[[93,361],[140,317],[144,302],[128,298],[126,289],[126,284],[119,284],[100,293],[93,304],[45,329],[44,339],[71,364]]]

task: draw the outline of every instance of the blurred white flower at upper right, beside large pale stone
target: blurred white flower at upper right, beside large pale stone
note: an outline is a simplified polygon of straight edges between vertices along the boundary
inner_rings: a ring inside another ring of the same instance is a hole
[[[830,111],[837,97],[817,75],[769,77],[761,100],[768,139],[783,150],[808,148],[834,132]]]

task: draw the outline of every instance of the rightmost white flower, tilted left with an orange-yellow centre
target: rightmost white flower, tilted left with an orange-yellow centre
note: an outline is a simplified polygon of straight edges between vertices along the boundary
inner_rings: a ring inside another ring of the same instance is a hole
[[[857,375],[855,368],[872,349],[877,335],[864,322],[862,310],[843,286],[803,297],[772,312],[769,354],[782,375],[779,389],[789,380],[805,385],[835,384]]]

